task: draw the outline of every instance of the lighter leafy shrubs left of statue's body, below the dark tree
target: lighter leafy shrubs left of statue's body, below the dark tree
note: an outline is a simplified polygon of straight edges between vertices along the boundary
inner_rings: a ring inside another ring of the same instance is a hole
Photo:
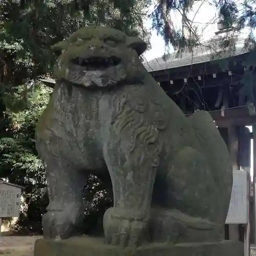
[[[46,186],[45,169],[35,150],[35,125],[44,110],[51,93],[49,88],[35,86],[26,93],[16,87],[12,95],[11,109],[5,105],[8,117],[6,134],[0,138],[0,178],[25,187],[23,208],[18,221],[20,226],[31,231],[41,230],[41,214],[44,214],[48,198],[42,197],[42,189]],[[11,111],[26,102],[23,109]],[[2,110],[3,111],[3,110]]]

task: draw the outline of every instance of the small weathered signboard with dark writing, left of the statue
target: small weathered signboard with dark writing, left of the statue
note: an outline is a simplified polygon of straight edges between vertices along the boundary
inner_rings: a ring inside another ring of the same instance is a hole
[[[19,217],[22,189],[7,182],[0,182],[0,218]]]

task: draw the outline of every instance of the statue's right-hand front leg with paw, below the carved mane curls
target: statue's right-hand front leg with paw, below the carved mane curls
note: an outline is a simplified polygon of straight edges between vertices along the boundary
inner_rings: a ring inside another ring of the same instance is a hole
[[[122,247],[138,246],[148,234],[156,175],[153,147],[140,145],[130,152],[124,144],[104,147],[114,192],[114,207],[104,215],[104,234],[107,243]]]

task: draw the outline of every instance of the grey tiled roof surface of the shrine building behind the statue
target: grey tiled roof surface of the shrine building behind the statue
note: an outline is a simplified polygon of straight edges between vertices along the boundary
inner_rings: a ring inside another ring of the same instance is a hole
[[[148,72],[173,69],[183,66],[188,66],[192,64],[198,64],[203,62],[208,62],[213,59],[228,58],[230,56],[241,55],[248,52],[247,49],[244,49],[244,38],[239,38],[236,41],[236,47],[233,52],[226,51],[219,53],[221,51],[220,47],[212,47],[212,42],[207,41],[202,43],[198,47],[194,47],[193,51],[185,50],[182,55],[176,56],[176,52],[170,53],[165,60],[163,57],[155,58],[150,61],[144,61],[143,65]]]

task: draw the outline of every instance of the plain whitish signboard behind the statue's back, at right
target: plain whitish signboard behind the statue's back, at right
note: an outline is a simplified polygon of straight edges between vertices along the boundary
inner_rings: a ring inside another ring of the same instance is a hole
[[[248,173],[242,170],[233,170],[233,187],[226,224],[247,224],[248,189]]]

